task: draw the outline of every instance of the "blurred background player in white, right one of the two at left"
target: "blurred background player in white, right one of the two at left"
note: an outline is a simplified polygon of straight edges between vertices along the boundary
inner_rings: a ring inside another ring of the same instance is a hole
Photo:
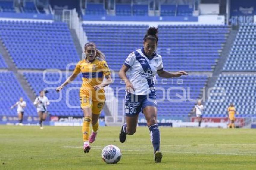
[[[44,91],[40,91],[40,96],[38,96],[34,102],[37,105],[37,113],[39,117],[40,129],[43,129],[42,122],[45,121],[47,116],[47,106],[50,104],[48,98],[45,96]]]

